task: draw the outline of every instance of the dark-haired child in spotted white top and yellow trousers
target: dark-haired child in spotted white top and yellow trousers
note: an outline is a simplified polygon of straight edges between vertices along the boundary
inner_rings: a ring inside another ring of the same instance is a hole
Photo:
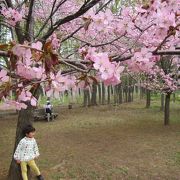
[[[34,139],[35,128],[31,125],[24,129],[25,137],[19,142],[14,153],[14,159],[21,166],[23,180],[28,180],[27,165],[35,172],[38,180],[44,180],[34,159],[39,156],[39,150]]]

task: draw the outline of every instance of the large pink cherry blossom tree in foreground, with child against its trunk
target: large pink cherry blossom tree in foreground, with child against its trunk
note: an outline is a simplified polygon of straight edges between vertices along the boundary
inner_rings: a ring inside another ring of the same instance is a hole
[[[40,86],[58,97],[97,82],[119,84],[121,73],[130,71],[155,77],[168,98],[178,88],[157,64],[160,56],[180,54],[180,2],[152,0],[113,10],[114,4],[118,1],[3,1],[2,24],[15,39],[0,45],[0,56],[9,59],[0,71],[0,99],[20,110],[15,147],[22,128],[32,123]],[[9,179],[20,178],[12,160]]]

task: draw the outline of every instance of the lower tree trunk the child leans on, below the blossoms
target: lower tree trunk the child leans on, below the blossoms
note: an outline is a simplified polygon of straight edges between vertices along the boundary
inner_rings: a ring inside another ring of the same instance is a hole
[[[19,141],[24,137],[24,134],[23,134],[24,127],[26,127],[27,125],[32,125],[32,122],[33,122],[32,110],[33,108],[29,105],[27,109],[22,109],[21,111],[19,111],[13,155]],[[21,177],[20,165],[18,165],[15,162],[14,158],[12,157],[11,165],[9,168],[8,180],[21,180],[21,179],[22,177]]]

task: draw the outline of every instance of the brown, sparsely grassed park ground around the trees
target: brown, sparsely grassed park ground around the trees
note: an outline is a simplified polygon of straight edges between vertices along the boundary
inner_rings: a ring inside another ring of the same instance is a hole
[[[145,109],[144,104],[59,109],[55,122],[34,123],[41,153],[37,164],[45,179],[179,180],[179,104],[171,103],[167,127],[159,106]],[[14,115],[0,119],[2,180],[12,156],[16,121]]]

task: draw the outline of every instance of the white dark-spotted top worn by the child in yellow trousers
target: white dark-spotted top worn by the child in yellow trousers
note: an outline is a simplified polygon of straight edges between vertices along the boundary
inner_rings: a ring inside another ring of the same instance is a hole
[[[34,138],[24,137],[19,142],[14,153],[14,159],[19,161],[30,161],[39,156],[39,150]]]

